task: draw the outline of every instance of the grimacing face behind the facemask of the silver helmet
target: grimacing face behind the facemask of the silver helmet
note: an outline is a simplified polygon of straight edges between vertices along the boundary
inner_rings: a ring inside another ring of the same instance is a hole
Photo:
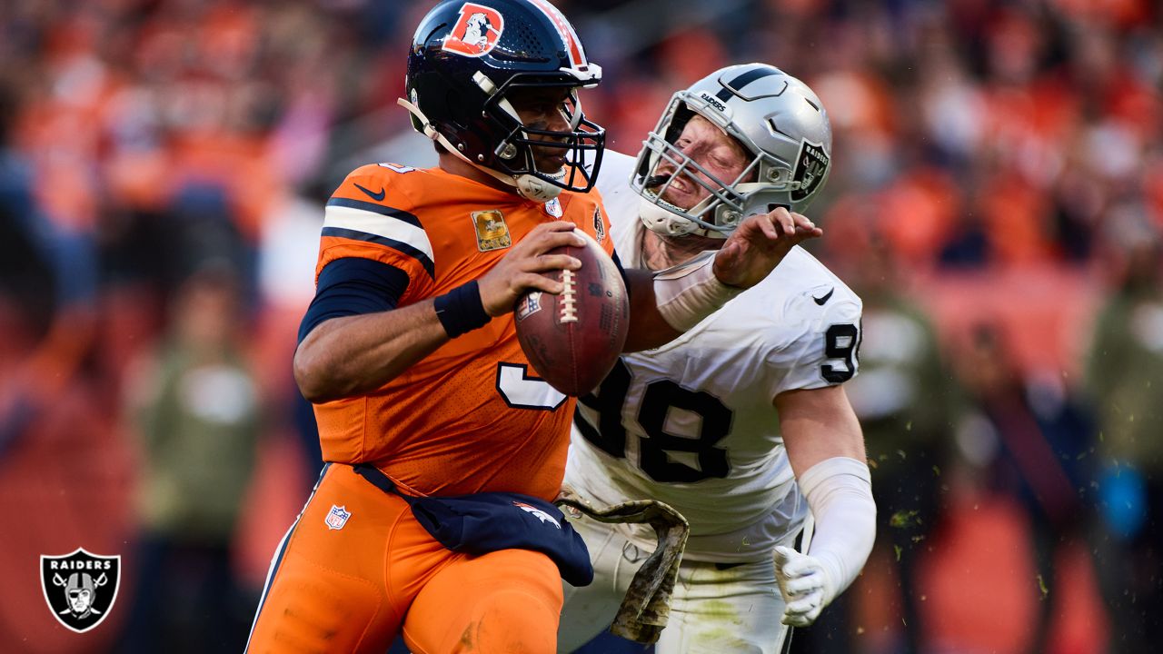
[[[725,184],[734,182],[749,163],[747,150],[739,142],[697,114],[686,122],[675,141],[675,147],[719,179],[715,182],[699,170],[687,166],[662,196],[664,200],[683,209],[690,209],[711,196],[709,189],[695,179],[702,180],[712,189],[722,189]],[[655,176],[659,179],[656,184],[648,185],[648,189],[661,189],[675,175],[676,169],[671,162],[661,159],[655,168]]]

